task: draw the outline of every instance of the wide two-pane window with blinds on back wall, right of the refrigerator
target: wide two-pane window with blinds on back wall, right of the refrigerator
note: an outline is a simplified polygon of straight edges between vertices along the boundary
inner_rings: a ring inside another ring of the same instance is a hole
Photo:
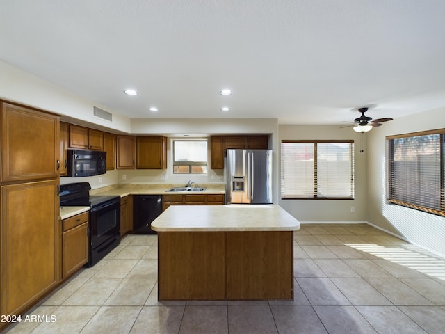
[[[353,141],[282,141],[282,199],[353,199]]]

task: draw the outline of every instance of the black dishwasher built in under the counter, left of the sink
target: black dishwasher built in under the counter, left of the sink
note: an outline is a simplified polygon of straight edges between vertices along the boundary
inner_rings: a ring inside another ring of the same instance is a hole
[[[133,195],[133,232],[156,233],[152,221],[162,212],[161,195]]]

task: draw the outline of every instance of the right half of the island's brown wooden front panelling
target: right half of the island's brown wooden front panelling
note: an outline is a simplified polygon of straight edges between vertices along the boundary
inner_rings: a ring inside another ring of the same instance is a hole
[[[226,232],[226,299],[293,299],[293,231]]]

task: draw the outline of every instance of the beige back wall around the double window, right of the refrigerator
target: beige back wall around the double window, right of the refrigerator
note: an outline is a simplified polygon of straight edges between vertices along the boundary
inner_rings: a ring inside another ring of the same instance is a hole
[[[302,139],[352,139],[355,143],[354,200],[279,200],[279,204],[303,222],[366,221],[366,134],[338,125],[280,125],[279,141]],[[364,152],[359,150],[363,148]],[[280,155],[280,152],[279,154]],[[280,158],[280,157],[279,157]],[[280,167],[279,167],[280,168]],[[354,212],[351,212],[354,207]]]

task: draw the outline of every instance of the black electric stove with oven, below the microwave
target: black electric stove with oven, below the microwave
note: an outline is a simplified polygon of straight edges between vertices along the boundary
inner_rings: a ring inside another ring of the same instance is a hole
[[[120,197],[90,196],[88,182],[60,185],[60,207],[90,207],[88,267],[120,244]]]

